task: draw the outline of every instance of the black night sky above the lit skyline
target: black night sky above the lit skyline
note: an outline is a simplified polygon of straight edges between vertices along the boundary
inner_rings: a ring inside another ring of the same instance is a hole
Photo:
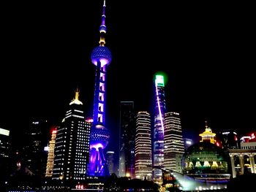
[[[240,4],[107,0],[107,124],[118,129],[119,101],[153,112],[156,72],[167,74],[167,111],[186,137],[255,130],[255,20]],[[31,118],[58,123],[80,88],[92,115],[102,1],[4,4],[1,11],[0,127],[13,135]]]

